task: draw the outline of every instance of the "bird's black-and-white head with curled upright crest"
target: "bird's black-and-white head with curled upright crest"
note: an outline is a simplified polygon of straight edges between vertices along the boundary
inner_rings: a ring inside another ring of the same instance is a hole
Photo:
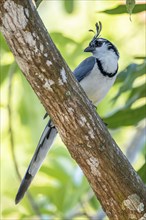
[[[102,59],[102,57],[106,58],[106,56],[115,56],[117,59],[119,58],[119,52],[117,48],[108,40],[104,38],[99,38],[99,34],[102,29],[101,22],[96,23],[96,34],[89,43],[89,46],[84,50],[84,52],[91,52],[93,56],[96,58]],[[94,32],[93,30],[89,30]]]

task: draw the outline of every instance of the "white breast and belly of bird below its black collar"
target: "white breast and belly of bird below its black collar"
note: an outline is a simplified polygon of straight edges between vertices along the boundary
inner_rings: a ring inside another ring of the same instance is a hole
[[[104,76],[100,73],[97,65],[94,65],[92,72],[80,82],[80,85],[93,104],[97,105],[108,93],[115,79],[116,75],[112,78]]]

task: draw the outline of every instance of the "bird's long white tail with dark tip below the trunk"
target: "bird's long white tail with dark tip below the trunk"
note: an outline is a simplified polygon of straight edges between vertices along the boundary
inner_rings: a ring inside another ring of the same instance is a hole
[[[18,193],[15,198],[15,204],[19,203],[20,200],[23,198],[33,178],[40,169],[42,162],[45,159],[51,145],[53,144],[56,135],[57,135],[57,130],[53,125],[53,122],[49,120],[39,140],[38,146],[32,157],[32,160],[26,171],[26,174],[21,182],[21,185],[19,187]]]

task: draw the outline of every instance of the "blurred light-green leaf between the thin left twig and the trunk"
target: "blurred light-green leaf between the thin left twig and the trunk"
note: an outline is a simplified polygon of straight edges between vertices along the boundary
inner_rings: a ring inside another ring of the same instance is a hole
[[[38,97],[33,92],[32,88],[24,78],[22,74],[21,77],[21,90],[20,90],[20,101],[18,104],[18,113],[21,123],[27,128],[31,129],[31,135],[34,143],[38,142],[38,137],[40,137],[41,132],[46,124],[43,121],[43,106],[40,105]],[[30,103],[33,103],[30,105]],[[42,110],[42,112],[41,112]],[[41,115],[42,113],[42,115]],[[42,117],[42,118],[41,118]],[[34,129],[37,128],[37,129]]]

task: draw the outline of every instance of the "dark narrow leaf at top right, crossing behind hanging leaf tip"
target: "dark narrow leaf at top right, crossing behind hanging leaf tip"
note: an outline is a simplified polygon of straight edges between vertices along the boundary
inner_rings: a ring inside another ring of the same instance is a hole
[[[145,10],[146,10],[146,4],[136,4],[133,10],[133,14],[136,14],[136,13],[139,13]],[[119,5],[116,8],[104,10],[101,12],[106,13],[106,14],[111,14],[111,15],[127,13],[125,5]]]

